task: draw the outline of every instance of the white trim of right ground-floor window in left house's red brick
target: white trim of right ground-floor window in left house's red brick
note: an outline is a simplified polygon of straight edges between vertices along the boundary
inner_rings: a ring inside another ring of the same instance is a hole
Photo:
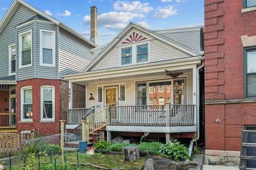
[[[43,100],[44,88],[52,88],[52,118],[43,118]],[[41,122],[55,121],[55,87],[54,86],[41,86]]]

